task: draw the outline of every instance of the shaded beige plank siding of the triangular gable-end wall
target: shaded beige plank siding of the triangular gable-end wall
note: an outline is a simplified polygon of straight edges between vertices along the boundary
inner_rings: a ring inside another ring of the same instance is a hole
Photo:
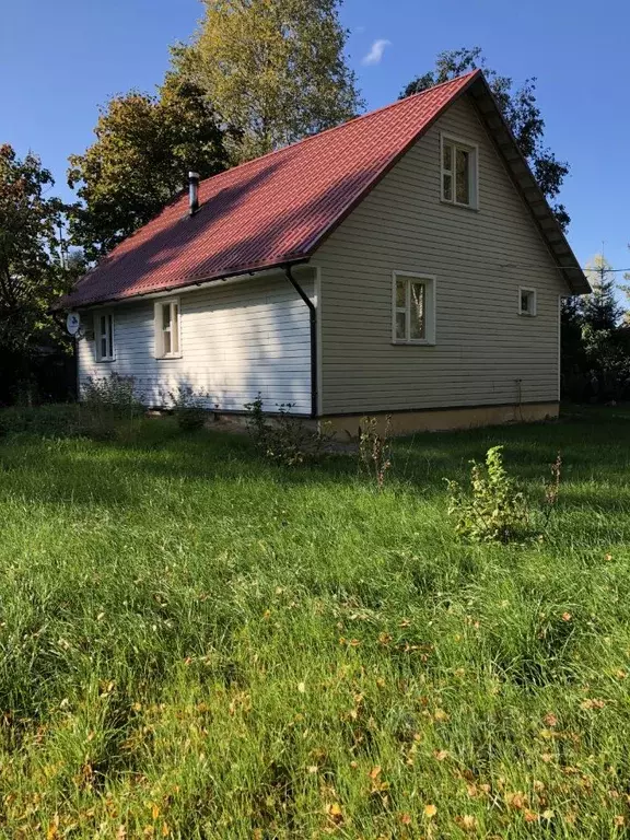
[[[442,131],[478,145],[478,210],[441,201]],[[312,262],[324,415],[558,400],[559,295],[569,290],[467,96]],[[434,347],[392,343],[394,270],[436,277]],[[536,317],[518,315],[520,285],[537,290]]]

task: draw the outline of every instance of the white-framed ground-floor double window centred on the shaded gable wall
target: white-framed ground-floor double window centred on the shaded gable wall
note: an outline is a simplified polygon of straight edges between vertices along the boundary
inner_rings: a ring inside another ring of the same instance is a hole
[[[394,271],[392,340],[395,345],[435,343],[435,278]]]

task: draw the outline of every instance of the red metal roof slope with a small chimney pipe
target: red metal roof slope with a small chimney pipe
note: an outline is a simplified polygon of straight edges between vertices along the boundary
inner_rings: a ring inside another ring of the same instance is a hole
[[[475,71],[201,182],[121,242],[63,306],[177,289],[307,258],[478,75]]]

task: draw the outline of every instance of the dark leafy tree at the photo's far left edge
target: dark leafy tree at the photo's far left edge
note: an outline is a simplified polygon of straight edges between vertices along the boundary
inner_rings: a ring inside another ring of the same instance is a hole
[[[59,258],[65,207],[48,197],[54,179],[39,159],[0,145],[0,349],[26,357],[48,340],[50,306],[69,288]]]

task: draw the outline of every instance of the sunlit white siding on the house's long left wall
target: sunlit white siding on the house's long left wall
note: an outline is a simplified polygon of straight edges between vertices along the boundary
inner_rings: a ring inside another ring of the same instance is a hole
[[[295,273],[313,296],[312,275]],[[80,383],[115,371],[133,376],[152,406],[168,405],[168,392],[189,385],[207,394],[208,407],[243,410],[260,393],[269,411],[291,402],[296,413],[310,413],[308,311],[284,276],[228,281],[178,298],[180,359],[155,358],[155,300],[119,304],[107,308],[114,314],[116,360],[97,362],[94,341],[81,339]]]

